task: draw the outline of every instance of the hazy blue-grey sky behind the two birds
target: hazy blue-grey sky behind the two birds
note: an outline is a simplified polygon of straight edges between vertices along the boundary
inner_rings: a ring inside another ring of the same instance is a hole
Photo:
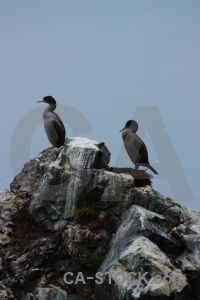
[[[139,124],[153,188],[200,210],[200,2],[0,0],[0,189],[50,146],[51,95],[67,136],[105,142],[133,167],[121,133]]]

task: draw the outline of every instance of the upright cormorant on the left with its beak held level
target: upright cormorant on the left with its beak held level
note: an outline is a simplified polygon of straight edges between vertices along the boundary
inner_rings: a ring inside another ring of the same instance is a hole
[[[44,129],[49,142],[53,147],[60,148],[65,142],[65,126],[60,117],[54,112],[56,109],[56,100],[52,96],[46,96],[43,100],[37,101],[49,104],[44,112]]]

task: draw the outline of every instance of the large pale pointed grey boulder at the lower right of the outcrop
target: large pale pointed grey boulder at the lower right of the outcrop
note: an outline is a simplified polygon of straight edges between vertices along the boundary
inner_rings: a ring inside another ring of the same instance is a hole
[[[166,226],[162,216],[135,205],[124,214],[99,269],[104,280],[102,285],[96,284],[96,300],[124,299],[127,295],[130,299],[173,299],[177,293],[179,299],[184,299],[189,295],[186,276],[175,268],[165,253],[170,251],[162,239],[167,239],[170,247],[173,238],[164,232],[164,223]],[[151,242],[154,239],[165,252]],[[175,243],[171,247],[176,249],[178,246]]]

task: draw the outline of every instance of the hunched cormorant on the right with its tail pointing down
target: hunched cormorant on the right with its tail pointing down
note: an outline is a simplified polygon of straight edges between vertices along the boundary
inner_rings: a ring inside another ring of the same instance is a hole
[[[124,141],[124,147],[131,159],[135,164],[135,170],[139,169],[139,166],[149,168],[154,174],[158,172],[149,164],[147,147],[141,138],[136,134],[138,130],[138,123],[135,120],[129,120],[126,122],[122,131],[122,138]]]

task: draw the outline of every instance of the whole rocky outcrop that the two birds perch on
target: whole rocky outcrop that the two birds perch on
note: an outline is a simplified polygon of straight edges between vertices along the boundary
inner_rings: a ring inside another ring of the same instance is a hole
[[[200,213],[109,158],[67,139],[0,192],[0,299],[200,299]]]

